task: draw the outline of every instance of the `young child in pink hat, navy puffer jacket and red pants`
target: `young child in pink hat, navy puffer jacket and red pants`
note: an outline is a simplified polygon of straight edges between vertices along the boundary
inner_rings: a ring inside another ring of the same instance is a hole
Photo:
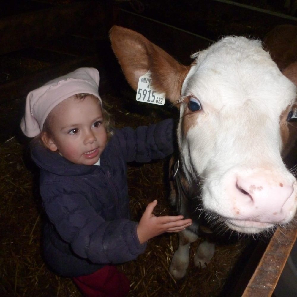
[[[173,121],[112,130],[98,87],[94,68],[51,80],[28,94],[21,129],[35,137],[31,156],[41,169],[45,261],[85,296],[127,296],[129,281],[115,264],[136,259],[146,241],[191,220],[154,216],[157,200],[140,222],[129,219],[126,163],[171,154]]]

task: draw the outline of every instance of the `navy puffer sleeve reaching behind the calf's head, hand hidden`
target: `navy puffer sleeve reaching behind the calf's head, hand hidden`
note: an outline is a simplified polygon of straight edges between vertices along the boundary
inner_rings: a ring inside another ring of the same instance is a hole
[[[126,162],[149,162],[163,159],[174,151],[174,122],[166,119],[150,126],[135,130],[125,127],[117,131],[119,145]]]

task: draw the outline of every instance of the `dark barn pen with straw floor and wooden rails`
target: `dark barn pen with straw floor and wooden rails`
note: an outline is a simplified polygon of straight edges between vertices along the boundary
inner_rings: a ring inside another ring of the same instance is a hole
[[[0,4],[1,296],[80,296],[71,279],[53,274],[41,257],[38,170],[19,129],[26,94],[78,67],[95,67],[100,72],[99,93],[116,127],[148,125],[169,117],[177,121],[178,113],[168,103],[156,108],[136,102],[110,48],[110,27],[133,29],[189,65],[191,53],[220,36],[263,40],[277,25],[297,25],[294,7],[284,7],[282,2],[12,0]],[[138,221],[155,198],[156,215],[175,214],[168,199],[168,162],[129,164],[133,220]],[[294,146],[285,163],[291,168],[296,162]],[[291,224],[274,234],[222,241],[204,269],[193,264],[196,242],[187,275],[176,281],[168,269],[178,238],[167,233],[151,240],[143,255],[119,269],[131,281],[129,296],[272,296],[296,236],[296,226]]]

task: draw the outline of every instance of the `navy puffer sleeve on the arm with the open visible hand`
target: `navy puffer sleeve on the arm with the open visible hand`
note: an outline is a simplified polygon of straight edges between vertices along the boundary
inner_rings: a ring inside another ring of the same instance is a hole
[[[146,249],[138,240],[137,222],[105,221],[76,185],[44,184],[40,190],[46,214],[78,257],[118,264],[136,259]]]

